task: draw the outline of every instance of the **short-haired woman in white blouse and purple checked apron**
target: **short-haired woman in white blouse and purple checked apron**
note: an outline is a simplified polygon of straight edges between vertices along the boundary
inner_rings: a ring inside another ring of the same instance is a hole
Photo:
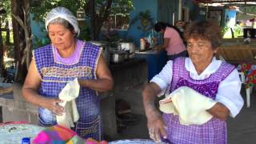
[[[150,138],[175,144],[226,144],[226,118],[229,115],[234,118],[243,106],[238,71],[214,57],[222,39],[214,22],[191,23],[184,38],[190,57],[168,61],[142,92]],[[168,86],[170,92],[188,86],[214,99],[217,103],[206,110],[213,118],[202,125],[182,125],[178,115],[161,115],[154,107],[154,99]]]

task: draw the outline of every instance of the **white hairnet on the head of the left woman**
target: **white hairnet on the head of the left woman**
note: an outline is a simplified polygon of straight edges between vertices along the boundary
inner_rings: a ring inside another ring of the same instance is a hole
[[[66,9],[65,7],[56,7],[53,10],[50,10],[50,12],[46,16],[47,31],[49,23],[56,18],[62,18],[65,19],[67,22],[70,22],[70,24],[74,27],[74,31],[77,33],[77,36],[80,34],[77,18],[75,18],[71,11]]]

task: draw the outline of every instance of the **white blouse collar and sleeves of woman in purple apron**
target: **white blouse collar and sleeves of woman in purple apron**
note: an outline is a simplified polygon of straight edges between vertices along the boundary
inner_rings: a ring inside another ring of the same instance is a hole
[[[190,72],[190,78],[195,80],[202,80],[209,78],[210,74],[216,72],[221,66],[222,61],[213,58],[209,66],[206,67],[206,70],[202,74],[198,75],[197,71],[194,68],[194,65],[190,58],[186,58],[185,67],[186,70]],[[161,94],[164,94],[167,87],[170,85],[172,80],[172,70],[173,61],[168,61],[166,66],[162,71],[154,76],[150,82],[156,83],[162,90]],[[216,94],[215,101],[222,103],[230,110],[230,116],[235,117],[243,106],[243,99],[240,94],[241,90],[241,80],[239,78],[238,70],[233,70],[229,76],[227,76],[222,82],[218,85],[218,93]]]

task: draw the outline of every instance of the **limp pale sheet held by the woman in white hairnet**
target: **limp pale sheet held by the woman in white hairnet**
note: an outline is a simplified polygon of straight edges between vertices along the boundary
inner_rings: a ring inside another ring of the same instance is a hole
[[[58,94],[58,98],[63,101],[59,105],[64,107],[64,113],[56,116],[59,125],[70,129],[74,127],[74,122],[78,122],[79,114],[75,98],[78,98],[79,90],[78,78],[75,78],[74,81],[68,82]]]

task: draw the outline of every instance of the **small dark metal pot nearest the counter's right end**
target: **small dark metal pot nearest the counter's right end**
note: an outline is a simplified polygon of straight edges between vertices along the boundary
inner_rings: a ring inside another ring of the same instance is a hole
[[[126,59],[126,51],[122,50],[114,50],[110,51],[110,62],[114,64],[120,64],[125,62]]]

